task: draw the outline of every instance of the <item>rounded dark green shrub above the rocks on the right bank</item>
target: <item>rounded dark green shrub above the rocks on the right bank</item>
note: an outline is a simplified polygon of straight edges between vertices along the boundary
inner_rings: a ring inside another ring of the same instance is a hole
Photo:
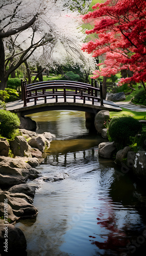
[[[130,144],[130,138],[141,130],[141,123],[132,116],[114,117],[109,124],[109,135],[119,147]]]

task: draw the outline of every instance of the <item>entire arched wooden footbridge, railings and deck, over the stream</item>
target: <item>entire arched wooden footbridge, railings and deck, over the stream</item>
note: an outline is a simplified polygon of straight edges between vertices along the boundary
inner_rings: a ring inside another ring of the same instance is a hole
[[[77,110],[96,114],[100,110],[121,111],[112,101],[103,100],[102,82],[44,81],[27,84],[21,80],[21,100],[7,103],[7,110],[25,116],[50,110]]]

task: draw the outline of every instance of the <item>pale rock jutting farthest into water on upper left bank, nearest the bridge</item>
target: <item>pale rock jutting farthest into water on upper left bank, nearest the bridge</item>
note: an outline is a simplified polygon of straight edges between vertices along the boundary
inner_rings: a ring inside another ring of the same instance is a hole
[[[38,148],[40,151],[47,150],[50,147],[50,142],[41,134],[32,137],[28,141],[29,145]]]

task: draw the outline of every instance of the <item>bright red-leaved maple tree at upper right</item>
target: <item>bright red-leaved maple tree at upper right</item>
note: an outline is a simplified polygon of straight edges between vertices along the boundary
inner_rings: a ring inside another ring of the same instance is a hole
[[[133,76],[121,78],[119,84],[140,82],[146,91],[146,1],[107,0],[92,8],[94,11],[82,18],[94,24],[86,33],[96,33],[98,39],[83,44],[82,50],[92,53],[92,57],[106,56],[97,65],[104,66],[93,72],[93,78],[130,70]]]

